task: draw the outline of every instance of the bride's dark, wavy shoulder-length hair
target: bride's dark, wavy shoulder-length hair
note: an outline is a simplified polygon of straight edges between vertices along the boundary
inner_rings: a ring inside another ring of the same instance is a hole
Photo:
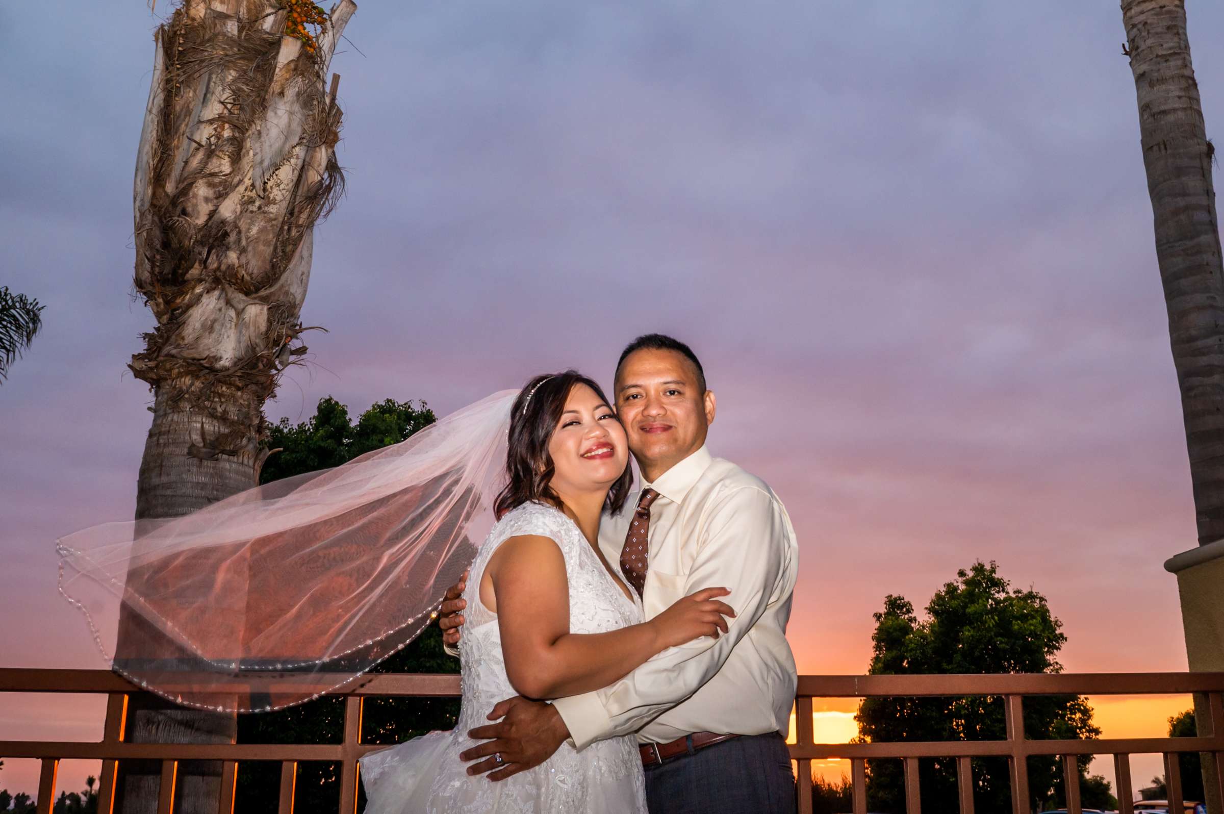
[[[506,472],[509,475],[509,482],[493,503],[496,517],[501,518],[528,501],[561,508],[561,497],[548,485],[556,471],[552,455],[548,454],[548,442],[557,424],[561,422],[561,414],[565,411],[569,392],[578,384],[591,388],[605,404],[611,406],[612,403],[603,395],[600,386],[574,370],[536,376],[519,392],[519,398],[514,399],[506,450]],[[606,507],[612,512],[619,512],[629,496],[630,486],[633,486],[633,471],[625,464],[621,477],[608,490]]]

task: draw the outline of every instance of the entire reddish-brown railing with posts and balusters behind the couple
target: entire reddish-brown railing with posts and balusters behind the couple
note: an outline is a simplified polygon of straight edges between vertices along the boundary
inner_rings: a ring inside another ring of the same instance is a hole
[[[114,673],[100,670],[13,670],[0,668],[0,693],[105,693],[106,720],[103,739],[97,743],[70,741],[0,741],[0,759],[42,760],[38,812],[49,814],[60,760],[102,760],[98,810],[111,814],[115,767],[119,760],[162,760],[159,814],[174,810],[174,786],[181,760],[223,763],[219,814],[234,809],[237,764],[247,760],[282,763],[280,814],[294,805],[294,781],[300,760],[335,761],[340,765],[340,814],[353,814],[357,804],[357,760],[382,745],[361,742],[362,704],[370,696],[454,696],[458,676],[377,674],[345,694],[344,739],[339,744],[164,744],[130,743],[124,738],[129,695],[137,692]],[[1193,738],[1125,738],[1092,741],[1029,739],[1023,731],[1024,696],[1029,695],[1149,695],[1198,693],[1209,711],[1209,731]],[[1006,714],[1004,741],[944,741],[905,743],[815,743],[812,699],[814,698],[1001,698]],[[955,758],[960,814],[973,812],[972,758],[1006,758],[1011,774],[1011,809],[1028,814],[1028,767],[1033,755],[1061,758],[1066,782],[1067,812],[1081,814],[1078,755],[1113,755],[1120,814],[1133,814],[1130,755],[1164,755],[1170,812],[1181,812],[1181,753],[1203,753],[1215,788],[1224,788],[1224,673],[1062,673],[993,676],[799,676],[796,698],[797,742],[789,747],[798,764],[798,776],[812,776],[813,760],[848,759],[853,814],[867,814],[867,760],[901,759],[905,765],[906,810],[920,814],[918,760]],[[1208,783],[1211,786],[1211,783]],[[810,814],[812,794],[800,783],[799,814]],[[1213,801],[1220,805],[1220,801]],[[1222,810],[1222,809],[1215,809]],[[944,814],[944,813],[938,813]]]

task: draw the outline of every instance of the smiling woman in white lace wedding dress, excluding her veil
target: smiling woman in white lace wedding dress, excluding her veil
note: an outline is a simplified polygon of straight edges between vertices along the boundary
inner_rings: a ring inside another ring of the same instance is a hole
[[[723,614],[734,616],[715,599],[728,591],[707,588],[643,622],[641,600],[600,553],[600,517],[621,509],[632,475],[624,428],[590,378],[567,371],[528,383],[512,408],[506,469],[497,524],[468,580],[458,725],[366,755],[367,814],[645,813],[633,736],[581,753],[565,744],[494,783],[466,774],[465,733],[504,698],[600,689],[666,648],[725,633]]]

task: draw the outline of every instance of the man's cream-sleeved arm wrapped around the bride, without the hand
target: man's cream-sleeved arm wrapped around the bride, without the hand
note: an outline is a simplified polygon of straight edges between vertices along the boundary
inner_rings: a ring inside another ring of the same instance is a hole
[[[765,612],[788,559],[787,521],[772,496],[748,486],[720,501],[682,595],[730,588],[726,601],[737,613],[730,630],[670,648],[603,689],[553,701],[574,745],[634,732],[700,689]]]

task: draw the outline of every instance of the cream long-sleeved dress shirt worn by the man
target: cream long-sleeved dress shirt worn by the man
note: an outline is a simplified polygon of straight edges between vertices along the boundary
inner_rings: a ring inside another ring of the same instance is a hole
[[[654,484],[646,618],[703,588],[723,586],[736,611],[730,632],[668,648],[621,681],[553,701],[579,749],[629,732],[666,743],[693,732],[786,734],[796,668],[786,623],[799,566],[791,519],[763,480],[705,447]],[[638,504],[600,524],[600,548],[619,568]]]

